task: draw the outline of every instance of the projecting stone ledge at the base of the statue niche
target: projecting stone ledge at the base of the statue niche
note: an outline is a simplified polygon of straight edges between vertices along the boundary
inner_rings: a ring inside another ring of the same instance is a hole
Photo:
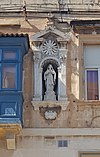
[[[31,101],[33,109],[39,110],[41,107],[61,107],[62,111],[67,110],[69,101]]]

